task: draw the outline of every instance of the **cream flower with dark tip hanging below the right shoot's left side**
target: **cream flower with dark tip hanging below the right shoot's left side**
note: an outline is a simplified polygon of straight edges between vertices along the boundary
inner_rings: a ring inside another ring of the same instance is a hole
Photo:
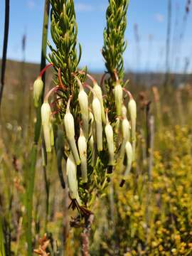
[[[108,151],[109,151],[109,165],[113,166],[114,165],[114,142],[113,142],[113,130],[112,126],[110,125],[108,116],[106,114],[106,120],[107,124],[105,126],[105,135],[107,138],[107,146],[108,146]]]

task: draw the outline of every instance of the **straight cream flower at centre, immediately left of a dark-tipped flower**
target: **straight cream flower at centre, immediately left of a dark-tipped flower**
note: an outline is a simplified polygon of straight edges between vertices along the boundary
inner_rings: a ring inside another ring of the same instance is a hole
[[[102,151],[102,116],[101,116],[101,105],[100,100],[95,97],[92,100],[92,111],[96,123],[96,132],[97,132],[97,150]]]

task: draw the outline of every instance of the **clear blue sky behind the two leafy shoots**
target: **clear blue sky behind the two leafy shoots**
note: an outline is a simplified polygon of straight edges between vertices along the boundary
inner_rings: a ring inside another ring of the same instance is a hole
[[[2,2],[2,1],[1,1]],[[160,70],[165,68],[166,24],[168,0],[130,0],[127,12],[127,31],[125,38],[128,47],[124,53],[126,70]],[[105,28],[105,10],[107,0],[75,0],[78,21],[78,40],[82,45],[80,65],[87,65],[90,70],[104,70],[100,50],[102,33]],[[21,60],[21,38],[26,33],[26,60],[38,63],[41,56],[41,28],[43,22],[43,0],[10,0],[11,20],[9,31],[8,58]],[[183,31],[183,15],[186,0],[172,0],[171,30],[171,69],[182,72],[186,57],[192,57],[192,16],[189,13],[181,49],[175,48]],[[4,3],[0,5],[0,50],[4,29]],[[176,20],[178,17],[178,21]],[[177,23],[177,25],[175,25]],[[134,24],[138,26],[139,51],[141,57],[136,61],[137,47],[134,39]],[[175,32],[174,32],[175,31]],[[50,36],[49,36],[50,37]],[[173,40],[174,38],[174,40]],[[174,43],[173,43],[174,42]],[[178,56],[178,58],[177,58]],[[178,62],[176,63],[176,59]],[[191,71],[190,63],[188,71]]]

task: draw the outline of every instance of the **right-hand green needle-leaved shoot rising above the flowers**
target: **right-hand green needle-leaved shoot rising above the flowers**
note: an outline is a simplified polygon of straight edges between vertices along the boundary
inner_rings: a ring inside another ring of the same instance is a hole
[[[102,55],[105,58],[105,66],[111,77],[114,78],[114,70],[117,70],[119,80],[124,77],[123,53],[127,47],[124,41],[124,31],[127,26],[127,7],[129,0],[109,0],[106,12],[107,27],[104,31],[104,46]]]

